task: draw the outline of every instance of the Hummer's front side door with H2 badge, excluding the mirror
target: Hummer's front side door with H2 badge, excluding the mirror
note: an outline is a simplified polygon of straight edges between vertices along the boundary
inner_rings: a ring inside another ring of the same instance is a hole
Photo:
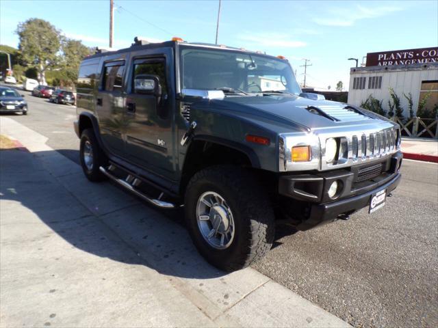
[[[126,98],[126,150],[133,163],[156,174],[172,179],[172,120],[168,96],[168,74],[165,57],[137,58],[131,61],[131,90]],[[155,75],[159,79],[161,96],[136,93],[133,81],[137,75]]]

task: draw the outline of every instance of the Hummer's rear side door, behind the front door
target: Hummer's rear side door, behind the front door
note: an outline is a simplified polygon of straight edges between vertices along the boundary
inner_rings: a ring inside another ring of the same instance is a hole
[[[101,85],[96,97],[96,111],[103,144],[112,154],[125,154],[123,135],[127,129],[123,77],[125,60],[105,61]]]

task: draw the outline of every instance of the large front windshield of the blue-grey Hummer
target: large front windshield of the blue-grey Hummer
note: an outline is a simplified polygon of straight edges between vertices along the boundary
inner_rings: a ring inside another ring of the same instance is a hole
[[[182,47],[181,47],[182,48]],[[181,49],[182,89],[300,94],[284,59],[225,49]]]

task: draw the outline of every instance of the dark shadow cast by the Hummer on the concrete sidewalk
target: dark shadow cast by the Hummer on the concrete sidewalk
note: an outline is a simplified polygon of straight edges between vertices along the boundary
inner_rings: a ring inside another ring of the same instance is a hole
[[[110,182],[89,182],[74,163],[78,173],[55,178],[44,161],[36,159],[51,156],[66,161],[55,151],[0,152],[0,200],[6,220],[13,216],[32,226],[38,217],[77,249],[127,264],[146,265],[165,275],[209,279],[226,274],[198,255],[183,228],[181,210],[164,214],[164,210],[139,202]],[[42,237],[37,234],[31,238]]]

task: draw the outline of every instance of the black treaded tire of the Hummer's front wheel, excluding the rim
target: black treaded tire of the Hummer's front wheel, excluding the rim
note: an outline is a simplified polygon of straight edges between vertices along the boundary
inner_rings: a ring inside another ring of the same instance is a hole
[[[207,243],[198,228],[196,206],[207,191],[227,202],[235,226],[231,244],[217,249]],[[185,220],[198,251],[215,267],[235,271],[262,258],[274,241],[274,212],[268,195],[253,174],[232,166],[214,166],[196,173],[185,192]]]

